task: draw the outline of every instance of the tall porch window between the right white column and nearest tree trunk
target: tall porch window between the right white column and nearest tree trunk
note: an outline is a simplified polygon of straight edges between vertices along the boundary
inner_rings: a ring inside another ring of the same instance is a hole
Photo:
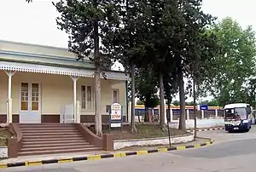
[[[92,109],[92,88],[82,85],[81,87],[81,106],[82,109]]]

